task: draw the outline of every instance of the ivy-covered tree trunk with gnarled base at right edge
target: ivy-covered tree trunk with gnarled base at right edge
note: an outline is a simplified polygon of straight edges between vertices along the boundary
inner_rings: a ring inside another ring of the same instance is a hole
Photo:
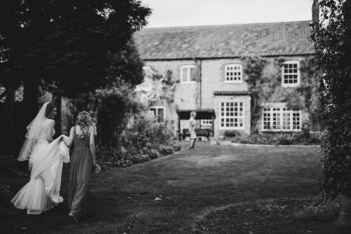
[[[320,76],[319,119],[325,125],[323,191],[312,205],[287,218],[334,221],[351,230],[351,1],[322,0],[322,20],[311,24]]]

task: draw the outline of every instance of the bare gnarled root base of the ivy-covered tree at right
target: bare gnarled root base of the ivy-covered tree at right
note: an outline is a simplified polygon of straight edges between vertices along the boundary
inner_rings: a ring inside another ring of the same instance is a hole
[[[305,210],[287,216],[290,220],[334,222],[340,230],[351,230],[351,196],[339,193],[329,195],[324,191]]]

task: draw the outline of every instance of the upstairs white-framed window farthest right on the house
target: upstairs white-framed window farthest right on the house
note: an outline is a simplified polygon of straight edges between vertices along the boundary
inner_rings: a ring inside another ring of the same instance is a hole
[[[300,84],[300,62],[285,61],[282,66],[282,87],[296,87]]]

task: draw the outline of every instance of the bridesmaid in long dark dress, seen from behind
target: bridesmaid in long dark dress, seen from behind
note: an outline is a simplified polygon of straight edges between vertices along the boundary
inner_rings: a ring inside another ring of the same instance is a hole
[[[85,193],[95,164],[95,125],[86,111],[80,112],[77,120],[78,125],[71,128],[69,139],[64,140],[67,147],[74,142],[68,192],[68,218],[72,222],[78,222],[77,218],[87,210]]]

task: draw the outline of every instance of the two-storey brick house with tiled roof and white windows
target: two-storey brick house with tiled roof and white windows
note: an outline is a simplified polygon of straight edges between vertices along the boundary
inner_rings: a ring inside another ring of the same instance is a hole
[[[318,93],[311,82],[310,23],[141,29],[134,35],[145,61],[139,97],[149,100],[148,109],[159,121],[171,121],[174,132],[184,136],[192,110],[198,113],[198,128],[206,129],[200,134],[216,138],[301,131],[315,121],[311,109],[317,108],[317,98],[310,91],[307,100],[302,88],[309,81]],[[262,66],[253,66],[255,61]],[[166,74],[174,81],[172,99],[150,98],[153,84]],[[300,104],[292,107],[294,102]]]

